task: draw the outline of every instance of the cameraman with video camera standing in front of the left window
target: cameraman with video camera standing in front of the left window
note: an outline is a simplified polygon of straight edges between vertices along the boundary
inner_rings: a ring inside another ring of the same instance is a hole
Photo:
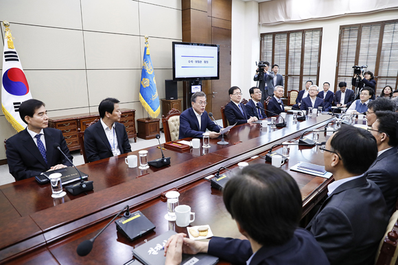
[[[261,90],[261,104],[264,105],[264,101],[269,97],[274,95],[274,73],[272,71],[268,72],[270,68],[269,62],[259,62],[258,68],[256,70],[254,81],[257,81],[257,88]]]

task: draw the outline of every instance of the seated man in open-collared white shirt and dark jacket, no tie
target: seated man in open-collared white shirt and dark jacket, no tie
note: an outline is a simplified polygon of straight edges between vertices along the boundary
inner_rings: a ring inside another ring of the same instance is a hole
[[[100,121],[84,130],[84,148],[89,162],[131,152],[126,127],[120,121],[117,99],[106,98],[98,106]]]

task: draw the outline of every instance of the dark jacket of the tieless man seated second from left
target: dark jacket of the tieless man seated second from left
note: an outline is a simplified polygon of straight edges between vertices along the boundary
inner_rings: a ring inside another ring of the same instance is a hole
[[[126,127],[121,123],[115,122],[115,133],[120,153],[131,152]],[[87,160],[89,160],[89,162],[113,156],[112,149],[108,138],[106,138],[101,121],[94,123],[84,130],[84,148],[86,149]]]

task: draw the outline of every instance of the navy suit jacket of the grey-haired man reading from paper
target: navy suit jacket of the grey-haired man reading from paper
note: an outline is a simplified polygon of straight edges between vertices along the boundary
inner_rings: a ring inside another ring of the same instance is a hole
[[[201,138],[206,129],[210,131],[220,131],[220,127],[218,127],[214,121],[211,121],[206,110],[203,112],[202,116],[200,116],[200,123],[202,126],[199,128],[198,118],[196,118],[192,108],[184,110],[180,115],[180,132],[178,139],[187,137]]]

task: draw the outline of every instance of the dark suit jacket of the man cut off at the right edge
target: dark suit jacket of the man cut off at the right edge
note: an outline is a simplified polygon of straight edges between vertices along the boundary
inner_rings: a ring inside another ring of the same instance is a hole
[[[364,174],[375,182],[383,192],[389,216],[395,212],[398,199],[398,151],[395,147],[388,149],[377,157]]]

